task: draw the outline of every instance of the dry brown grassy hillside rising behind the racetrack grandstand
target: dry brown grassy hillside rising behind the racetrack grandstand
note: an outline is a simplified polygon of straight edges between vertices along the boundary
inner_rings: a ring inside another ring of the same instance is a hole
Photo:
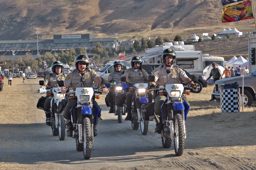
[[[119,40],[161,35],[255,30],[254,20],[221,23],[220,0],[0,0],[0,39],[40,39],[54,34],[93,33]]]

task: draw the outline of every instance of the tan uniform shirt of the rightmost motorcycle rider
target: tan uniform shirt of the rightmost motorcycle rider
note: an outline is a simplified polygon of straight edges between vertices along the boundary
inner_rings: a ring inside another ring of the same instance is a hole
[[[177,80],[172,80],[174,78],[177,78],[180,82],[181,80],[184,81],[186,78],[188,78],[186,73],[177,65],[172,65],[170,67],[170,73],[167,73],[166,69],[167,67],[165,65],[159,66],[152,73],[152,75],[155,76],[155,81],[160,85],[164,85],[168,80],[170,81],[168,81],[166,84],[178,83]]]

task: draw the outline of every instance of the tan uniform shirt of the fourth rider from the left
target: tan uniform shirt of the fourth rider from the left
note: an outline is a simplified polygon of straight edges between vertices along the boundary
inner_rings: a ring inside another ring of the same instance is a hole
[[[127,82],[129,83],[143,83],[144,77],[147,78],[148,74],[147,72],[142,69],[142,70],[137,70],[137,72],[132,68],[129,68],[125,70],[124,76],[128,77]]]

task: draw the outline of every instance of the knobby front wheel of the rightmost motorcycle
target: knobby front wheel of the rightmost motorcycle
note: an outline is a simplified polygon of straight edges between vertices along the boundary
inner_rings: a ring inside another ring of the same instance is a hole
[[[174,150],[177,156],[181,156],[184,150],[185,133],[183,126],[183,119],[180,114],[174,117]]]

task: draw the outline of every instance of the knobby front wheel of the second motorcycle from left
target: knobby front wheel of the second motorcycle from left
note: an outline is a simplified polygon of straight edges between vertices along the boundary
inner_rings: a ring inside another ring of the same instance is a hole
[[[89,118],[84,118],[82,134],[83,134],[83,157],[84,159],[90,159],[91,149],[92,149],[92,134],[91,134],[91,121]]]

